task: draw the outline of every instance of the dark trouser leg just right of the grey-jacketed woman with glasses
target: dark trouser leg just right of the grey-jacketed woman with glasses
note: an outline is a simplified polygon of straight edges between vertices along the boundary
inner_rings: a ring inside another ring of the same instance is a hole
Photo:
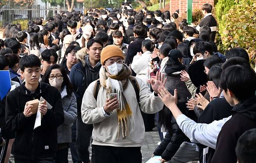
[[[71,156],[72,156],[72,161],[73,163],[82,163],[82,161],[80,160],[78,154],[77,154],[77,149],[75,147],[75,142],[76,142],[76,121],[74,122],[74,124],[71,127],[71,138],[72,138],[72,142],[69,143],[70,146],[70,152],[71,152]]]

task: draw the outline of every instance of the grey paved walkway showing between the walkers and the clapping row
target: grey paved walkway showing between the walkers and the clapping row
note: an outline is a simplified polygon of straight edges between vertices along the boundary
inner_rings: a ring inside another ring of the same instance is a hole
[[[142,163],[146,163],[147,160],[151,158],[151,155],[153,154],[154,150],[158,146],[157,143],[160,142],[160,137],[158,135],[158,132],[156,131],[156,128],[154,128],[153,130],[154,131],[145,133],[145,139],[143,142],[143,146],[141,148]],[[89,150],[91,153],[91,147],[89,148]],[[68,153],[68,163],[72,163],[70,151]]]

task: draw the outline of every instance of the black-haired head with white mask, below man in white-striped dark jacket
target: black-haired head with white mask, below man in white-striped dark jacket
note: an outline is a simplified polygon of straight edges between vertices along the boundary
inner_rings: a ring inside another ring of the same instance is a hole
[[[207,59],[213,55],[212,46],[208,42],[198,42],[193,48],[193,53],[195,54],[196,60]]]

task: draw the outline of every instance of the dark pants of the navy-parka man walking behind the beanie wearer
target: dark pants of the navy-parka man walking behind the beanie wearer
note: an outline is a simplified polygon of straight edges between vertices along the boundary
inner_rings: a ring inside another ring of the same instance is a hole
[[[89,163],[89,146],[91,141],[91,134],[93,132],[93,125],[87,125],[82,122],[81,113],[77,116],[77,137],[75,147],[77,154],[83,163]],[[93,149],[92,149],[93,150]]]

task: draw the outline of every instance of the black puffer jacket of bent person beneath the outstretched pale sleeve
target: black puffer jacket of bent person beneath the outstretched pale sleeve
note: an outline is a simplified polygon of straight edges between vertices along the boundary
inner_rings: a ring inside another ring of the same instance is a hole
[[[177,103],[181,112],[189,118],[196,120],[196,115],[193,111],[188,111],[186,101]],[[155,149],[154,155],[161,156],[164,160],[169,161],[177,152],[182,142],[190,142],[189,138],[182,132],[173,115],[170,117],[172,130],[168,131],[161,144]]]

